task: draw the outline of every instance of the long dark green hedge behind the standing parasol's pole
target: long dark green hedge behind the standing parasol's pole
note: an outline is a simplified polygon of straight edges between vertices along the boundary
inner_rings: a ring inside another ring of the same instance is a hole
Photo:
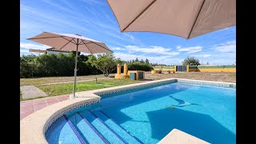
[[[70,54],[27,55],[20,58],[20,78],[53,77],[74,75],[74,57]],[[84,55],[78,56],[78,75],[102,74],[85,61]]]

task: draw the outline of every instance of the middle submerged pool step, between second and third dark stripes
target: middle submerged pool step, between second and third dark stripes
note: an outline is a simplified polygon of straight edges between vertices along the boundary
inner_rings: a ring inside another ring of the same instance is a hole
[[[106,140],[110,143],[127,143],[118,134],[114,132],[109,126],[107,126],[100,118],[92,114],[90,111],[82,111],[79,113],[83,118],[86,118],[95,129],[97,129]]]

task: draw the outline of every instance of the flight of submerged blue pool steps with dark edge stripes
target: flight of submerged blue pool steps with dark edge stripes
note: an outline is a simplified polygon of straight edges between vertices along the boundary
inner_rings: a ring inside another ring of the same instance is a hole
[[[143,143],[102,110],[86,110],[64,117],[81,143]]]

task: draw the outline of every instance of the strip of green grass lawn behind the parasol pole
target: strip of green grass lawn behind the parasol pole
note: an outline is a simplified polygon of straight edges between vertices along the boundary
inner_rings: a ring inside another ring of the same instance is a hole
[[[106,80],[98,80],[96,83],[95,81],[90,82],[78,82],[77,91],[86,91],[86,90],[96,90],[102,89],[106,87],[113,87],[113,86],[122,86],[138,83],[138,81],[130,80],[129,78],[126,79],[106,79]],[[54,85],[46,85],[46,86],[37,86],[40,90],[46,92],[48,96],[56,96],[62,94],[72,94],[74,83],[63,83],[63,84],[54,84]]]

